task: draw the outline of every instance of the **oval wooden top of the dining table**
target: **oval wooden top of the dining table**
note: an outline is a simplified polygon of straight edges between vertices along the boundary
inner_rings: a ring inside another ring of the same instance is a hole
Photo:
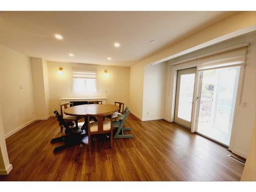
[[[106,113],[114,113],[119,110],[119,107],[114,104],[82,104],[71,106],[64,110],[66,115],[72,116],[87,116],[90,115],[98,115],[98,114],[106,114]]]

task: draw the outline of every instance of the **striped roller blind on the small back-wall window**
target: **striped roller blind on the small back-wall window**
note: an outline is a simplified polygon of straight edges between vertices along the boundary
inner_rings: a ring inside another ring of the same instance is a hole
[[[86,69],[86,68],[72,68],[73,78],[87,78],[96,79],[97,70],[96,69]]]

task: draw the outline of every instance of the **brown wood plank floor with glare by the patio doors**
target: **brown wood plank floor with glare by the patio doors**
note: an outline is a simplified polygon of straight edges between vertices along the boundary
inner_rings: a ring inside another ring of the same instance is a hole
[[[6,139],[13,170],[5,181],[239,181],[243,165],[225,148],[165,120],[125,123],[134,139],[96,140],[54,155],[57,120],[36,121]],[[129,133],[129,132],[128,132]]]

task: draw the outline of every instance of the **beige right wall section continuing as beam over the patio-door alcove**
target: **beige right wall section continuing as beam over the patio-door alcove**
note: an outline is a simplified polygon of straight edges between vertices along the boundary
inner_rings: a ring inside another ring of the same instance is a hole
[[[188,50],[207,41],[255,25],[255,12],[239,12],[212,25],[169,48],[152,55],[131,67],[130,106],[131,111],[142,116],[144,66],[167,60],[170,56]],[[167,58],[167,59],[166,59]]]

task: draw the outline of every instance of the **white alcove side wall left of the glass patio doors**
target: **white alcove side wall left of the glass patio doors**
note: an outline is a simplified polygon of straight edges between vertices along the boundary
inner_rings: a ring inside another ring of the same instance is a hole
[[[142,120],[163,119],[166,63],[146,66],[144,71]]]

